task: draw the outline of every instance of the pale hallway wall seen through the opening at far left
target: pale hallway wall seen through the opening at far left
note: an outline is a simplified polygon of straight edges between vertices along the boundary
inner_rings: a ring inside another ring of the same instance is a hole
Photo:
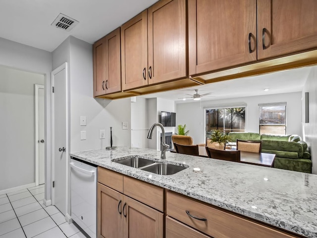
[[[34,84],[44,75],[0,65],[0,190],[35,182]]]

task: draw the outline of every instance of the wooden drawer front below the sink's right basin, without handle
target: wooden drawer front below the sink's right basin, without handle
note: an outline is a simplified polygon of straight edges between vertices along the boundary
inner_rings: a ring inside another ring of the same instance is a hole
[[[123,184],[125,195],[163,211],[163,188],[127,176],[124,176]]]

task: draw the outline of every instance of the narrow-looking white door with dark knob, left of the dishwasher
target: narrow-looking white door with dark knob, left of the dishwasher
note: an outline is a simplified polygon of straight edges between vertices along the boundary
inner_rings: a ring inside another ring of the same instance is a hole
[[[53,124],[53,189],[52,204],[66,214],[67,194],[67,64],[64,63],[52,72],[52,124]]]

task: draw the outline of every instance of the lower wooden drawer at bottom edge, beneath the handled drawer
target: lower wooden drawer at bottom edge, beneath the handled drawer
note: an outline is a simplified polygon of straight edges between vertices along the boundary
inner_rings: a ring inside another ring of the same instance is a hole
[[[166,238],[211,238],[183,223],[166,217]]]

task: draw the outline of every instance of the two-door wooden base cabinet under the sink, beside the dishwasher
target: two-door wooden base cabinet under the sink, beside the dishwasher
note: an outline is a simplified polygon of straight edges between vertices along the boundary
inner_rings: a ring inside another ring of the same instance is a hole
[[[102,172],[107,173],[107,170]],[[100,175],[102,179],[103,174]],[[97,192],[98,238],[163,238],[162,212],[102,184],[100,180]]]

